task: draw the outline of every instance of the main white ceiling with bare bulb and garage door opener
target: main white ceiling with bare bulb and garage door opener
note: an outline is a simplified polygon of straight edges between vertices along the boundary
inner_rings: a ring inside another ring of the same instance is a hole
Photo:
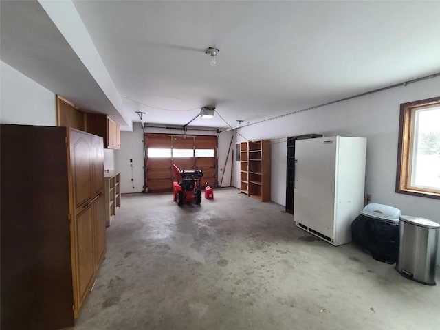
[[[236,126],[440,72],[440,1],[74,5],[120,96],[146,104],[133,109],[147,123],[184,125],[215,106]],[[220,49],[215,67],[209,46]],[[228,126],[218,115],[192,125]]]

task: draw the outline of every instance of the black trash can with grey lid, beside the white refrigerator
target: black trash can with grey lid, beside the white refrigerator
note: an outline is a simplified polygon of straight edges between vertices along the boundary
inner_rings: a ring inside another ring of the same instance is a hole
[[[400,210],[377,203],[367,205],[351,224],[353,243],[377,261],[393,264],[399,258]]]

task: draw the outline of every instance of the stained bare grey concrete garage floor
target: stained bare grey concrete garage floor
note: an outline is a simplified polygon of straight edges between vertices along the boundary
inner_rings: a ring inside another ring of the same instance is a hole
[[[214,197],[124,195],[75,329],[440,329],[438,268],[435,287],[408,281],[276,203]]]

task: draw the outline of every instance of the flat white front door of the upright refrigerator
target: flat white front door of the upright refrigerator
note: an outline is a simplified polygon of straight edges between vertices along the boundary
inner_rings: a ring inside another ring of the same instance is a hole
[[[295,144],[294,220],[333,238],[335,221],[336,137]]]

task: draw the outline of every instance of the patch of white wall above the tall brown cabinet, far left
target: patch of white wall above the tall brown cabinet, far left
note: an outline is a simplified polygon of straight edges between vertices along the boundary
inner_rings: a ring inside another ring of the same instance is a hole
[[[0,122],[56,126],[55,94],[1,61]]]

